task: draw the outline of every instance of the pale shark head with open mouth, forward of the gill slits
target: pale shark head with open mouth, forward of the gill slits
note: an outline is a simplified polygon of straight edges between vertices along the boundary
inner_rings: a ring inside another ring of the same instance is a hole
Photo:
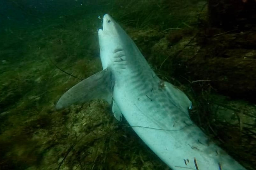
[[[131,38],[108,14],[105,14],[103,17],[102,29],[99,29],[98,36],[103,69],[113,65],[116,60],[115,56],[120,54],[122,57],[123,54],[121,53],[123,52],[126,53],[126,56],[127,53],[134,53]],[[122,61],[125,60],[124,58],[120,59]]]

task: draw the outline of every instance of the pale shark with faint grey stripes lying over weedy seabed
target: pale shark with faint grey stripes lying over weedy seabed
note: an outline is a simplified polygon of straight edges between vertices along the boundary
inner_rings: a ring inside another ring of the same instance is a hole
[[[79,82],[58,100],[57,109],[106,99],[146,145],[173,170],[245,170],[190,119],[192,102],[161,80],[136,44],[110,15],[99,29],[103,70]]]

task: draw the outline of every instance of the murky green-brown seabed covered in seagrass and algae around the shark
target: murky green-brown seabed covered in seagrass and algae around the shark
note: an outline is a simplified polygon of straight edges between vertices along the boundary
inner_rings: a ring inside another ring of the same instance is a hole
[[[253,170],[255,25],[212,25],[208,9],[196,0],[91,1],[41,27],[8,31],[0,48],[0,169],[169,169],[106,102],[55,110],[63,92],[101,70],[97,16],[109,13],[159,77],[192,99],[192,120]]]

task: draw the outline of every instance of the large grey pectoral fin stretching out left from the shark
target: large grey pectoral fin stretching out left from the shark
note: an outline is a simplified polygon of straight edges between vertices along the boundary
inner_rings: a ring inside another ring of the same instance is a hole
[[[112,83],[111,71],[108,69],[102,70],[77,83],[64,93],[58,100],[56,109],[84,103],[92,99],[105,99],[111,104]]]

